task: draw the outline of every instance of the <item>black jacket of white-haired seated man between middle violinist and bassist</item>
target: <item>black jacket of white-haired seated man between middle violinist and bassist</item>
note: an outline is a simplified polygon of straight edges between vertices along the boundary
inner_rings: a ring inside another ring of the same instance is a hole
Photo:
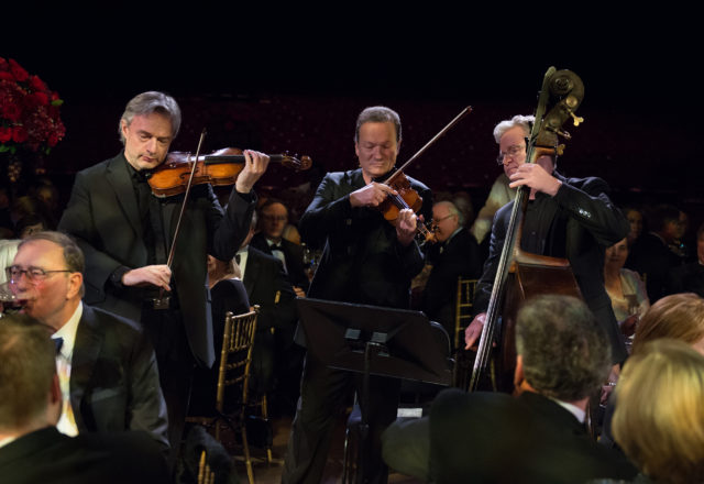
[[[422,292],[420,309],[431,320],[452,331],[458,277],[477,278],[482,271],[479,244],[474,235],[463,228],[444,243],[431,245],[426,258],[432,264],[432,271]]]

